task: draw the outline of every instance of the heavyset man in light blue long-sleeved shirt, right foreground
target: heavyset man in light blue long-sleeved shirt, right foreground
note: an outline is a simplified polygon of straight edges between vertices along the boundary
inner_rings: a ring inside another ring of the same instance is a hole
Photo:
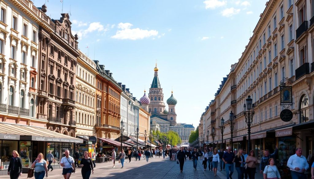
[[[295,155],[289,157],[287,166],[291,170],[291,177],[293,179],[307,178],[304,172],[309,168],[309,164],[307,163],[305,156],[302,155],[302,149],[300,147],[295,149]]]

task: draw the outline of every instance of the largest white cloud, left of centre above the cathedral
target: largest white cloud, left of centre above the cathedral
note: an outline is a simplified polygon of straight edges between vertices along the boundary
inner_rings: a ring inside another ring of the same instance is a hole
[[[139,28],[131,29],[132,26],[133,24],[130,23],[119,23],[118,29],[121,30],[117,30],[116,34],[111,36],[111,38],[137,40],[158,35],[157,30],[143,30]]]

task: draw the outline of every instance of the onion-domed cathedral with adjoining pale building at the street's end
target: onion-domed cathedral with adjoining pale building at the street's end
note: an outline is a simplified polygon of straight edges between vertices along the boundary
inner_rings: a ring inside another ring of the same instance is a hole
[[[150,129],[159,130],[160,132],[175,131],[181,137],[182,142],[188,142],[191,131],[194,131],[195,128],[191,124],[176,122],[177,100],[173,96],[173,91],[171,91],[171,96],[167,99],[168,110],[166,110],[164,93],[158,78],[158,70],[156,64],[148,97],[146,96],[146,91],[144,91],[144,96],[140,99],[143,108],[152,114],[150,117]]]

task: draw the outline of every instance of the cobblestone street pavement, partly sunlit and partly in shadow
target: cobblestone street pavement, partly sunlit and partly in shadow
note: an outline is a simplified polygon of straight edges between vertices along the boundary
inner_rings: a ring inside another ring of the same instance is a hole
[[[124,163],[124,167],[121,168],[121,164],[116,162],[116,168],[112,168],[112,162],[107,163],[96,163],[96,168],[94,169],[94,174],[90,178],[93,179],[135,179],[135,178],[154,178],[154,179],[198,179],[198,178],[210,178],[210,179],[221,179],[219,177],[225,176],[221,173],[217,173],[218,176],[214,176],[212,171],[204,171],[201,161],[198,161],[197,171],[193,170],[192,160],[187,160],[184,163],[183,172],[180,172],[179,165],[176,164],[176,161],[170,161],[169,157],[166,159],[160,158],[150,158],[149,162],[146,162],[145,159],[140,161],[135,161],[132,158],[132,161],[129,163],[128,160]],[[53,171],[48,172],[48,178],[62,179],[61,175],[62,169],[54,169]],[[22,174],[19,179],[26,179],[27,174]],[[1,179],[9,179],[8,175],[0,176]],[[76,172],[71,175],[72,179],[81,179],[81,169],[77,168]]]

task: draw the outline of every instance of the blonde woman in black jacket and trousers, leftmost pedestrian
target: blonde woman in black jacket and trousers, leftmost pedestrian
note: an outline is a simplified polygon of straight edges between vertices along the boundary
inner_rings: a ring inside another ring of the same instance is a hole
[[[10,179],[18,179],[19,176],[22,176],[22,160],[16,150],[12,151],[12,155],[13,157],[10,159],[8,167],[8,175],[10,175]]]

